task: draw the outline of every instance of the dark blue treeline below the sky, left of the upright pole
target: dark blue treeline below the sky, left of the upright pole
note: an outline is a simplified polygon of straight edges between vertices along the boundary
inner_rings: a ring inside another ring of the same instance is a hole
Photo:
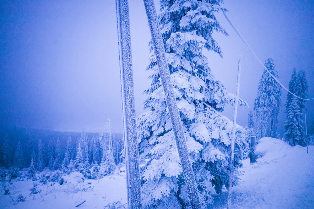
[[[49,167],[51,159],[56,161],[54,164],[56,169],[62,169],[62,161],[64,160],[65,153],[67,150],[67,143],[69,138],[72,140],[72,153],[68,153],[68,161],[73,160],[77,155],[77,148],[79,146],[80,137],[82,134],[86,135],[86,145],[88,161],[90,164],[94,164],[95,161],[100,163],[102,156],[106,156],[106,153],[102,154],[99,139],[100,136],[109,139],[111,137],[110,146],[113,154],[113,158],[116,164],[119,164],[122,160],[120,159],[120,152],[123,150],[123,134],[122,133],[111,133],[105,131],[102,133],[88,133],[88,132],[62,132],[62,131],[51,131],[51,130],[39,130],[39,129],[24,129],[24,128],[1,128],[0,129],[0,167],[9,168],[16,165],[17,156],[21,155],[20,168],[28,168],[33,159],[34,164],[37,165],[38,160],[38,146],[39,140],[41,140],[41,150],[43,157],[43,167]],[[102,134],[102,135],[101,135]],[[111,136],[110,136],[111,135]],[[107,140],[108,141],[108,140]],[[94,145],[93,147],[93,142]],[[107,142],[108,143],[108,142]],[[20,145],[19,145],[20,144]],[[83,146],[83,145],[81,145]],[[108,145],[106,145],[108,146]],[[96,149],[97,151],[94,151]],[[107,147],[106,147],[107,149]],[[105,150],[106,150],[105,149]],[[19,151],[20,150],[20,151]],[[22,154],[20,154],[21,152]],[[97,152],[97,154],[93,153]],[[97,159],[97,157],[98,159]],[[85,159],[84,159],[85,160]],[[105,160],[105,159],[103,159]]]

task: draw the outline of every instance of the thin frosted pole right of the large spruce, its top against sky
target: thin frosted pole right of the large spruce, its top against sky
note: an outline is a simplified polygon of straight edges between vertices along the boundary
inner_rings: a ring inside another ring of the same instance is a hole
[[[236,138],[236,115],[238,112],[238,103],[239,103],[239,92],[240,92],[240,75],[241,75],[241,62],[242,56],[239,56],[238,60],[238,78],[236,84],[236,104],[235,110],[233,113],[233,125],[232,125],[232,138],[231,138],[231,160],[230,160],[230,175],[229,175],[229,188],[228,188],[228,199],[227,199],[227,209],[231,208],[231,191],[232,191],[232,179],[233,179],[233,171],[234,171],[234,149],[235,149],[235,138]]]

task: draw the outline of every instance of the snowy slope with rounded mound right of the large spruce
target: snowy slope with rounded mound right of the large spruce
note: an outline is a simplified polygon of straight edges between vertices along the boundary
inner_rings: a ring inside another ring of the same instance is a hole
[[[233,208],[314,208],[314,146],[306,154],[306,147],[265,137],[256,151],[264,155],[254,164],[243,162],[244,173],[232,193]],[[208,208],[225,208],[226,196],[226,190],[215,195],[214,207]]]

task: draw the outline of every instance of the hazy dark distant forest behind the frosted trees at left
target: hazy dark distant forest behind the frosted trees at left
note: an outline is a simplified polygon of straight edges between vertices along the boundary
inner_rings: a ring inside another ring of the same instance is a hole
[[[20,142],[20,147],[23,153],[23,167],[28,168],[32,160],[32,154],[38,156],[38,142],[41,140],[42,144],[42,155],[44,161],[44,167],[47,167],[51,155],[48,152],[56,152],[60,150],[60,165],[65,157],[65,152],[67,148],[67,141],[69,137],[72,138],[73,143],[73,160],[75,158],[76,147],[79,143],[79,138],[83,134],[82,132],[62,132],[62,131],[51,131],[51,130],[40,130],[40,129],[24,129],[24,128],[0,128],[0,167],[11,167],[14,165],[14,155],[17,146]],[[111,133],[111,132],[110,132]],[[92,143],[93,138],[97,139],[94,141],[99,141],[99,136],[101,133],[91,133],[84,132],[87,136],[87,143],[90,148],[90,153],[92,153]],[[103,135],[104,132],[102,132]],[[108,138],[108,137],[107,137]],[[59,140],[59,146],[56,149],[57,141]],[[112,154],[116,164],[122,162],[120,158],[120,152],[123,150],[123,133],[111,133],[112,140]],[[49,144],[50,141],[50,144]],[[52,144],[51,144],[52,142]],[[50,146],[50,147],[49,147]],[[98,145],[99,146],[99,145]],[[99,152],[101,149],[99,149]],[[57,153],[55,153],[56,155]],[[6,155],[6,156],[4,156]],[[101,156],[101,153],[99,153]],[[95,158],[95,156],[94,156]],[[99,157],[100,158],[100,157]],[[101,159],[97,159],[100,163]],[[93,163],[93,156],[89,157],[89,163]],[[95,163],[95,162],[94,162]]]

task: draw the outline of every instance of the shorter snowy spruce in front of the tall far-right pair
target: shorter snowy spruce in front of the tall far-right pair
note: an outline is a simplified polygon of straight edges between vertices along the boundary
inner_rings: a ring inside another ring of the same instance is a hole
[[[297,97],[293,97],[288,106],[289,108],[286,110],[287,112],[287,120],[285,121],[285,137],[290,145],[295,146],[299,145],[301,138],[302,127],[302,114],[300,112],[299,99]]]

